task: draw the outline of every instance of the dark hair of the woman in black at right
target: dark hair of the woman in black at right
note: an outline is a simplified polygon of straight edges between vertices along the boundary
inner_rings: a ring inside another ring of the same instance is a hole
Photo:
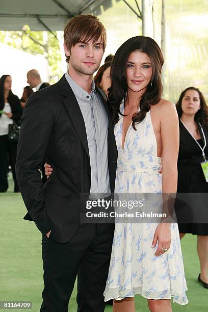
[[[208,108],[206,106],[206,102],[205,102],[204,96],[203,96],[202,92],[198,88],[189,87],[189,88],[186,88],[180,94],[180,97],[179,97],[179,99],[178,99],[178,101],[176,103],[176,110],[177,110],[177,113],[178,113],[178,117],[180,118],[181,115],[183,114],[183,111],[182,111],[182,108],[181,108],[182,100],[183,100],[183,98],[186,95],[186,92],[188,90],[195,90],[195,91],[197,91],[198,95],[199,95],[199,99],[200,99],[200,110],[198,110],[198,112],[195,114],[194,120],[196,121],[196,123],[200,123],[202,127],[204,125],[208,127]]]

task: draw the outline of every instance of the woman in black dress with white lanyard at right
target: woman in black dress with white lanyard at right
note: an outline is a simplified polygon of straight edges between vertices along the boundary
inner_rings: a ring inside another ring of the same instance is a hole
[[[177,192],[208,193],[208,183],[200,165],[205,159],[208,160],[208,109],[203,94],[194,87],[185,89],[180,94],[176,109],[180,129]],[[194,196],[196,197],[196,194]],[[182,213],[184,209],[185,207],[181,206]],[[195,219],[196,214],[200,214],[201,211],[203,217],[203,209],[207,210],[207,200],[204,202],[200,200],[200,205],[189,206],[188,213]],[[198,280],[204,288],[208,289],[208,224],[181,223],[178,224],[178,228],[180,238],[183,238],[186,233],[197,235],[200,262]]]

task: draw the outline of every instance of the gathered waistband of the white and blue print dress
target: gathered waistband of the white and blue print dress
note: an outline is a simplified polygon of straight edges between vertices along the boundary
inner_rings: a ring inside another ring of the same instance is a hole
[[[134,151],[118,152],[117,171],[135,171],[158,174],[162,168],[160,157],[142,155]]]

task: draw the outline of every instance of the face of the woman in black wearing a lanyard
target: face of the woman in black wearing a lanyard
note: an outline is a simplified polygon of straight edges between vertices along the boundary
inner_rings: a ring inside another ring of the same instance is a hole
[[[182,102],[181,109],[183,114],[194,116],[200,109],[200,98],[196,90],[187,90]]]

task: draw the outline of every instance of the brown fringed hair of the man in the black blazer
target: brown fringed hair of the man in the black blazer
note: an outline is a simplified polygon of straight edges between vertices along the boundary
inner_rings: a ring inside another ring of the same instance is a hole
[[[93,15],[79,15],[72,17],[66,24],[64,29],[64,41],[67,49],[77,42],[91,41],[95,43],[101,37],[102,49],[106,48],[106,29],[100,20]],[[69,62],[70,57],[66,57],[66,62]]]

